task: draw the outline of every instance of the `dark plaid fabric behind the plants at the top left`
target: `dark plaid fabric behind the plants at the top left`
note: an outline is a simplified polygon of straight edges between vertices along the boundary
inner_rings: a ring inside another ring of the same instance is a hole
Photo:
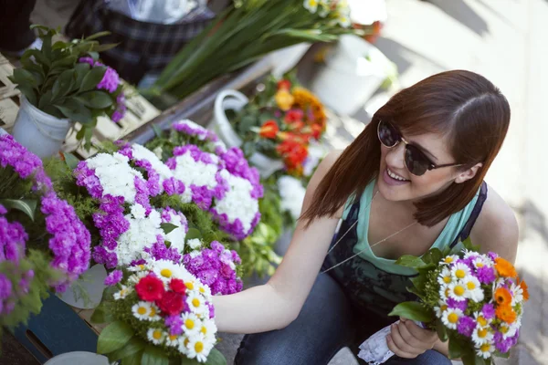
[[[137,83],[149,71],[162,70],[174,55],[215,17],[207,7],[197,7],[176,24],[147,23],[115,12],[104,0],[81,0],[70,16],[65,33],[73,38],[108,30],[101,43],[119,43],[101,59],[121,78]]]

